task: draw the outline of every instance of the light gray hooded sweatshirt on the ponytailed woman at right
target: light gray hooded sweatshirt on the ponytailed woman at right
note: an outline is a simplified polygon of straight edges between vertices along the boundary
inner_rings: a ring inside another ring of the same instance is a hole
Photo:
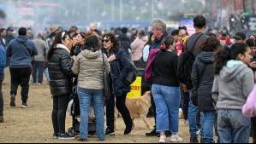
[[[213,82],[211,96],[216,108],[241,110],[253,90],[253,79],[253,71],[246,64],[229,60]]]

